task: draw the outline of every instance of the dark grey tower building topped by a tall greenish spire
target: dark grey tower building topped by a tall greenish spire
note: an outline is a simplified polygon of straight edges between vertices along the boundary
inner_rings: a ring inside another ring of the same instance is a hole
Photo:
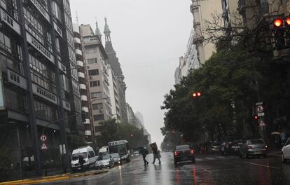
[[[124,81],[124,76],[122,69],[120,67],[120,62],[118,57],[116,56],[115,50],[113,50],[113,45],[111,43],[111,30],[109,29],[108,23],[106,22],[105,18],[105,27],[104,27],[104,34],[105,34],[105,50],[106,54],[108,55],[107,62],[111,65],[111,69],[116,76],[116,85],[118,87],[118,102],[119,102],[119,110],[120,110],[120,120],[121,122],[127,123],[127,108],[126,108],[126,97],[125,91],[127,86]]]

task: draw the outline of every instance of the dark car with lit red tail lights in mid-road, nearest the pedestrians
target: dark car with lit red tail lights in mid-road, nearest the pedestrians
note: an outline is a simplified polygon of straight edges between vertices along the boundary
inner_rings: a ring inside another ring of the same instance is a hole
[[[187,160],[191,160],[192,163],[195,163],[194,150],[188,144],[176,146],[173,156],[175,165],[177,165],[178,162]]]

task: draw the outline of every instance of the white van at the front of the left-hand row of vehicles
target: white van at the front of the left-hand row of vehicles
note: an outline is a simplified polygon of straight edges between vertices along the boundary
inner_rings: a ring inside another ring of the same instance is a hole
[[[74,149],[71,153],[71,169],[73,171],[81,170],[81,164],[78,162],[79,156],[83,156],[85,163],[83,164],[84,169],[90,169],[95,167],[95,151],[90,146],[83,146],[78,149]]]

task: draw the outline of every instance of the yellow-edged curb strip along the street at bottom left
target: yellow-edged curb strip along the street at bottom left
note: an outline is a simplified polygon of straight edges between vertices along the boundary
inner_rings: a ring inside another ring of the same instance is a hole
[[[23,179],[18,181],[5,181],[0,182],[0,185],[2,184],[36,184],[36,183],[44,183],[48,181],[58,181],[58,180],[64,180],[64,179],[70,179],[70,178],[78,178],[78,177],[85,177],[89,175],[94,174],[101,174],[104,172],[108,172],[108,170],[93,170],[89,172],[81,172],[81,173],[67,173],[67,174],[58,174],[54,176],[48,176],[48,177],[39,177],[39,178],[33,178],[33,179]]]

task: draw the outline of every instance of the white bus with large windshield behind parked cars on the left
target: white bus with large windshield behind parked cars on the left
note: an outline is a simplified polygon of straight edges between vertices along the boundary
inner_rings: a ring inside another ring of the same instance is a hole
[[[128,146],[128,142],[126,140],[109,142],[109,153],[119,153],[119,156],[122,161],[126,160],[129,162],[130,158],[130,150]]]

